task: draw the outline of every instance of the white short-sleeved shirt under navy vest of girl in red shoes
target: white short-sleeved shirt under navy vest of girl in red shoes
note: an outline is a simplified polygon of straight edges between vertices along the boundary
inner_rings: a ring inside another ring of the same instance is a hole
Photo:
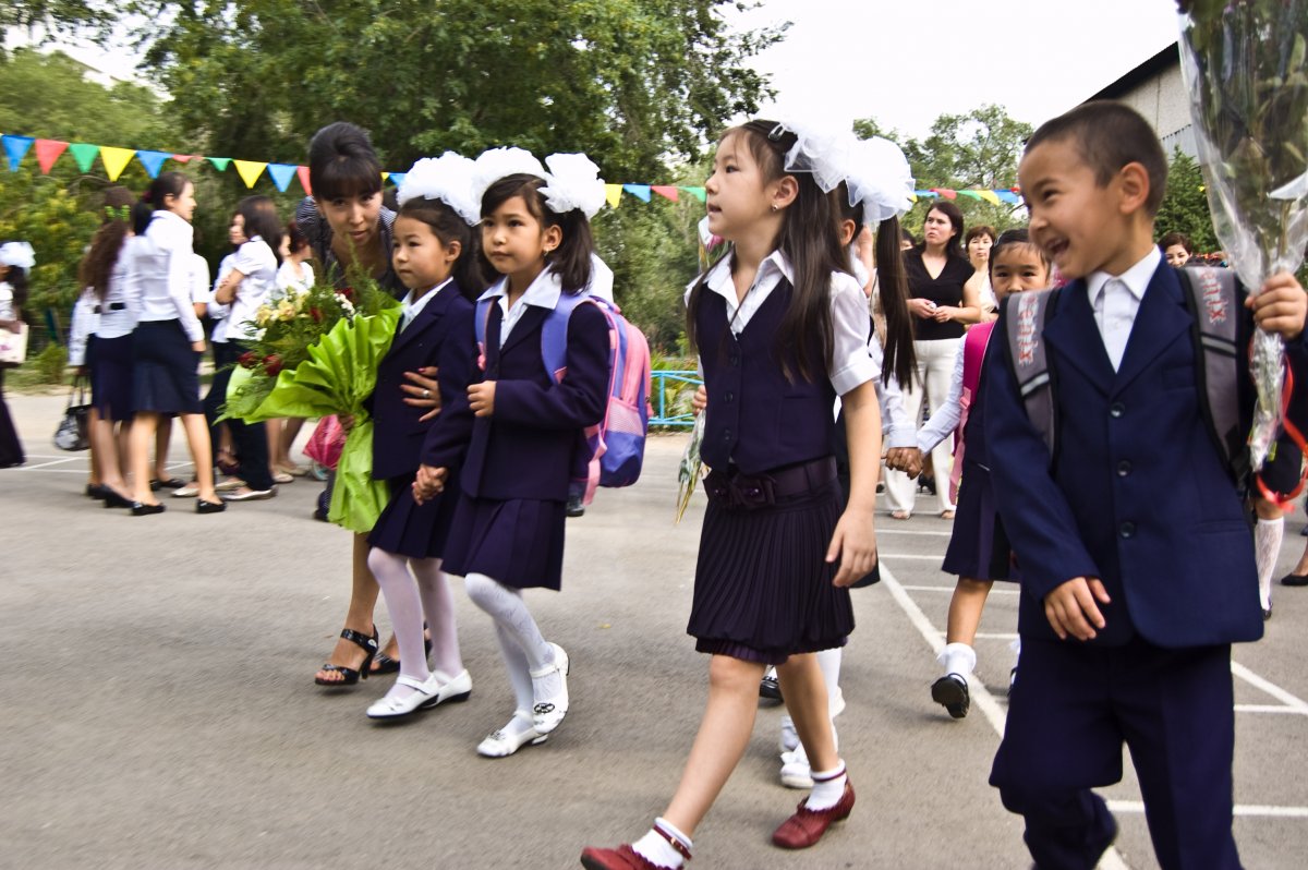
[[[773,251],[759,264],[753,285],[736,302],[735,283],[731,280],[732,256],[725,256],[709,270],[705,289],[717,293],[726,302],[727,322],[734,335],[744,327],[781,284],[781,279],[794,281],[790,262],[781,251]],[[685,300],[700,279],[685,288]],[[831,273],[832,358],[827,361],[827,377],[837,395],[880,377],[880,366],[867,349],[871,318],[867,315],[867,296],[858,280],[848,272]]]

